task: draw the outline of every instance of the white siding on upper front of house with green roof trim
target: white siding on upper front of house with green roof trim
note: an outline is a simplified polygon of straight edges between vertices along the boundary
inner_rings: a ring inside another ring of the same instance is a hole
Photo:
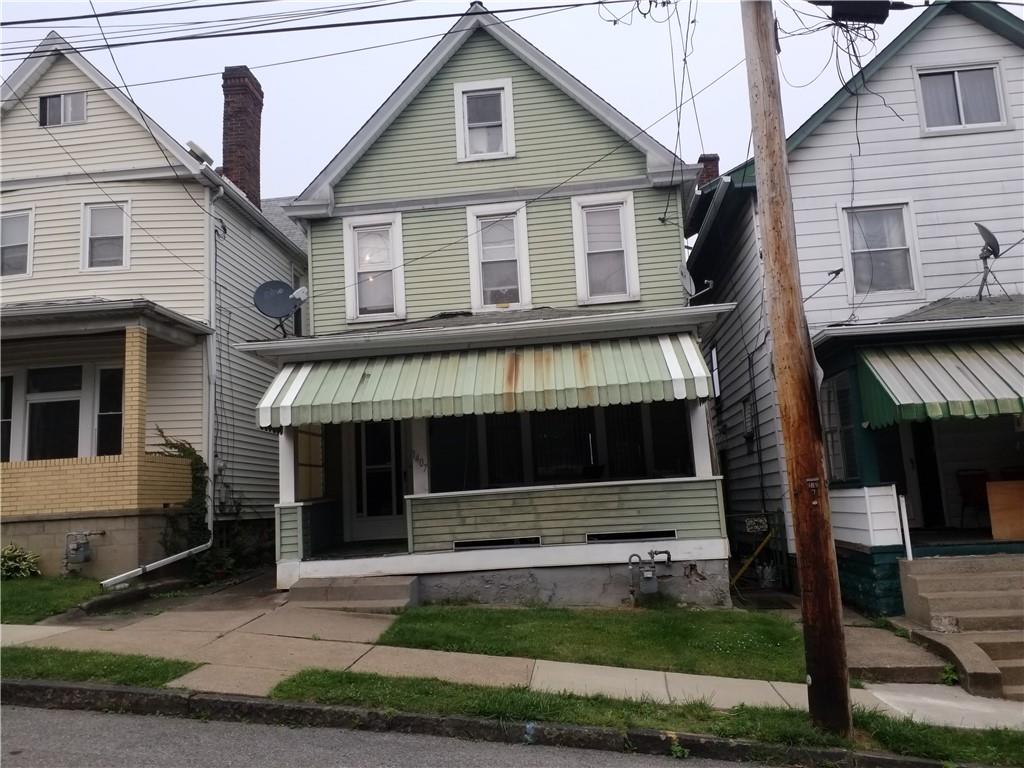
[[[979,61],[999,65],[1006,82],[1007,129],[923,135],[918,73],[970,68]],[[991,229],[1004,246],[1020,238],[1024,211],[1020,47],[947,10],[896,53],[867,86],[870,93],[860,89],[859,96],[849,98],[790,155],[801,288],[805,297],[818,291],[804,305],[812,334],[852,316],[860,323],[878,322],[946,296],[977,293],[981,239],[976,221]],[[907,238],[916,250],[921,282],[911,294],[878,294],[862,301],[863,295],[853,290],[843,210],[894,203],[907,204],[912,213]],[[1012,294],[1024,292],[1022,254],[1017,248],[993,263]],[[823,287],[828,273],[841,268],[844,272]],[[993,291],[998,292],[997,287]]]

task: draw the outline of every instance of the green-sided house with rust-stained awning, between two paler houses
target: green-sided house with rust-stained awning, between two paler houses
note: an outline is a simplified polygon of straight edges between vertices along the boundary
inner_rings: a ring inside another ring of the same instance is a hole
[[[662,550],[664,591],[727,603],[701,168],[470,6],[286,209],[311,335],[244,345],[281,367],[279,586],[616,603]]]

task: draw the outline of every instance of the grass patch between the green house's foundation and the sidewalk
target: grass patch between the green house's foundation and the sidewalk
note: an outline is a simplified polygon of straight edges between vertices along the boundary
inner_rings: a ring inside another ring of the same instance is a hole
[[[378,642],[694,675],[805,678],[797,628],[745,611],[423,606],[403,611]]]

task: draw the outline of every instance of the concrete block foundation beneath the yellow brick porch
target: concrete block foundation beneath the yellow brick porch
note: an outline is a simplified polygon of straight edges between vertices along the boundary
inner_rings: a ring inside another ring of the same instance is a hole
[[[157,509],[4,515],[0,521],[0,541],[34,552],[40,556],[39,567],[45,575],[59,575],[66,536],[91,531],[96,534],[89,537],[92,559],[78,566],[78,572],[92,579],[106,579],[165,557],[168,517],[177,514],[180,512],[176,509]]]

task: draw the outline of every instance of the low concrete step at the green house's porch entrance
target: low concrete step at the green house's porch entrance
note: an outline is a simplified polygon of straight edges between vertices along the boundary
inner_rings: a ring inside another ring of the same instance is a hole
[[[394,613],[419,600],[415,575],[300,579],[288,591],[290,603],[357,613]]]

